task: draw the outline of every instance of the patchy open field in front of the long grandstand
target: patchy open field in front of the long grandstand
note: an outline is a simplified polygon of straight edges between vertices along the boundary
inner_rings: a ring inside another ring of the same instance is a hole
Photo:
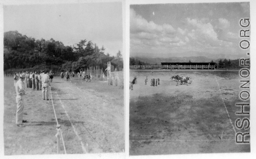
[[[176,86],[170,79],[174,75],[190,76],[192,84]],[[130,90],[130,155],[250,152],[250,144],[235,143],[236,133],[250,131],[244,129],[247,122],[242,129],[235,127],[238,118],[238,125],[250,118],[235,115],[241,112],[235,103],[242,102],[238,71],[130,70],[130,81],[134,76],[138,83]],[[160,78],[160,85],[150,86],[152,78]]]

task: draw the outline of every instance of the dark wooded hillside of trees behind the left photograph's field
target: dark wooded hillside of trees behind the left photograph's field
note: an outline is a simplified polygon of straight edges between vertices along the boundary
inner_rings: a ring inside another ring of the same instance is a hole
[[[103,68],[104,72],[108,61],[117,64],[117,69],[121,71],[123,58],[120,50],[116,56],[105,54],[104,50],[103,46],[98,47],[92,41],[81,40],[73,46],[64,46],[61,41],[53,38],[35,40],[22,36],[18,31],[9,31],[4,33],[4,72],[13,74],[20,70],[41,69],[78,72],[96,66]]]

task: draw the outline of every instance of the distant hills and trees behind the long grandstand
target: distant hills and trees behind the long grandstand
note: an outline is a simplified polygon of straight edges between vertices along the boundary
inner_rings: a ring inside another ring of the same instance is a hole
[[[141,57],[130,57],[130,65],[161,65],[160,62],[180,62],[183,63],[185,59],[189,60],[188,62],[209,62],[209,63],[215,63],[215,68],[222,69],[240,69],[240,59],[236,60],[230,60],[230,59],[217,59],[217,60],[211,60],[206,57],[189,57],[193,60],[190,60],[188,57],[173,57],[173,58],[141,58]],[[149,61],[149,62],[147,62]],[[243,60],[242,60],[242,63]],[[246,60],[246,64],[250,64],[250,60]]]

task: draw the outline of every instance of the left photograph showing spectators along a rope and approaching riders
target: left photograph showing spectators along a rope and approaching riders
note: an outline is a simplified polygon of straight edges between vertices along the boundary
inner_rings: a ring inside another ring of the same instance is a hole
[[[4,154],[125,152],[122,2],[3,17]]]

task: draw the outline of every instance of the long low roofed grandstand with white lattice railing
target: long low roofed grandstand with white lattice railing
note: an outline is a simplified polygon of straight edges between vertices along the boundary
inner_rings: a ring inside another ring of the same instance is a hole
[[[161,63],[162,69],[215,69],[215,63]]]

